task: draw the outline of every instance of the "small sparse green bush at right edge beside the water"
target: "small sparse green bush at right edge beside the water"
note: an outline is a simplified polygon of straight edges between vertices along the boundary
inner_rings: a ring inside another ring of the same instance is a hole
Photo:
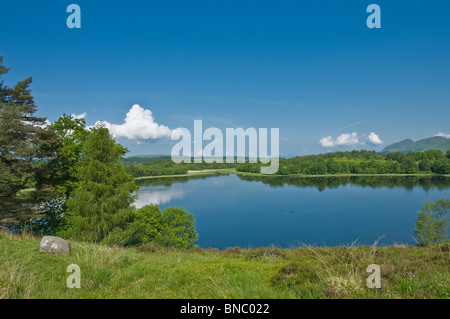
[[[423,210],[417,213],[415,235],[419,245],[427,246],[447,239],[449,210],[450,200],[448,199],[425,202]]]

